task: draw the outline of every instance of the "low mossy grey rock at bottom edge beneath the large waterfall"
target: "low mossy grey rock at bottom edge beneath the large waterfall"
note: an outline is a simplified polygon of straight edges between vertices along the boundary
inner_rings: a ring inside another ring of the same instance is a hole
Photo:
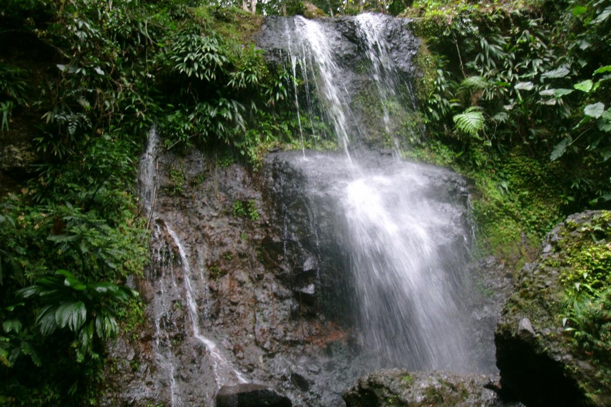
[[[510,407],[489,389],[494,383],[485,375],[411,373],[404,369],[379,370],[364,376],[343,393],[347,407],[452,406]]]

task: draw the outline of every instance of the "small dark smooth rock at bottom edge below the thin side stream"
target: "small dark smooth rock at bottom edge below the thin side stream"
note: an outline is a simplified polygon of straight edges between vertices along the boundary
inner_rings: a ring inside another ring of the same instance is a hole
[[[216,407],[291,407],[293,403],[262,384],[223,386],[216,394]]]

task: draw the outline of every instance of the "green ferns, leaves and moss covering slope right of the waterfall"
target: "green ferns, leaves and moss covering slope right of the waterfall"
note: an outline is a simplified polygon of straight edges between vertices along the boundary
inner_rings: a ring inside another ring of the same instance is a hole
[[[611,200],[609,6],[422,0],[404,12],[424,41],[430,134],[406,154],[473,179],[480,248],[512,264],[566,214]]]

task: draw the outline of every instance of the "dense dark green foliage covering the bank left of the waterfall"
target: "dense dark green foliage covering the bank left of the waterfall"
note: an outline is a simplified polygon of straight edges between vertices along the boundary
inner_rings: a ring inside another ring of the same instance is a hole
[[[260,20],[194,1],[9,0],[0,21],[3,145],[35,152],[0,204],[0,404],[95,404],[104,342],[141,310],[118,284],[147,262],[148,129],[256,160],[291,142],[290,76],[243,45]]]

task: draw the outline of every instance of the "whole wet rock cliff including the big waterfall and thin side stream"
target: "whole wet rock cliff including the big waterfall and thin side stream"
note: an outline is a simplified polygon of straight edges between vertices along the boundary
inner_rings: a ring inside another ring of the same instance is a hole
[[[342,390],[378,367],[494,372],[492,328],[478,328],[468,298],[466,181],[398,157],[420,132],[404,120],[417,39],[388,16],[296,16],[267,19],[258,45],[299,78],[302,148],[269,154],[255,185],[205,152],[160,154],[152,129],[139,175],[151,324],[142,364],[123,350],[138,374],[121,397],[212,407],[221,386],[252,382],[296,407],[342,406]],[[334,133],[340,153],[305,149],[314,131]],[[366,147],[378,140],[397,149]],[[177,165],[189,180],[178,199]],[[236,217],[236,202],[261,218]],[[481,331],[490,337],[474,340]]]

